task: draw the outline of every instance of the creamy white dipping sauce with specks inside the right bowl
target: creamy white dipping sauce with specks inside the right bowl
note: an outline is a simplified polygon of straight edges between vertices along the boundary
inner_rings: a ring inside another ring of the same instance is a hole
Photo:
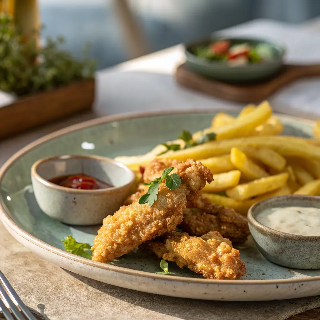
[[[307,207],[269,208],[255,219],[266,227],[301,236],[320,236],[320,209]]]

